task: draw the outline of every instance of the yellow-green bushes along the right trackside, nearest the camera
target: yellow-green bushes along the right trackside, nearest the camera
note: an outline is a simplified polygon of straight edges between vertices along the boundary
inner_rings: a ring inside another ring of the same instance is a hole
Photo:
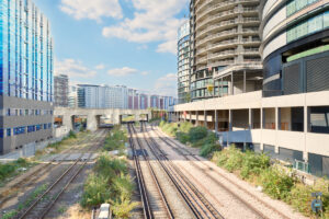
[[[329,218],[329,184],[319,180],[316,185],[302,184],[294,175],[293,170],[271,165],[270,157],[251,151],[241,152],[235,147],[215,152],[212,159],[218,166],[229,172],[235,172],[240,177],[260,185],[263,192],[275,199],[281,199],[292,205],[305,216],[311,217],[311,193],[322,192],[324,217]]]

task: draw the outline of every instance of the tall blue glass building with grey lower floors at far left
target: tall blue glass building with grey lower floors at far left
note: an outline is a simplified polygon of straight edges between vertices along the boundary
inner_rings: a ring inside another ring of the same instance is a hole
[[[53,136],[53,39],[30,0],[0,1],[0,153]]]

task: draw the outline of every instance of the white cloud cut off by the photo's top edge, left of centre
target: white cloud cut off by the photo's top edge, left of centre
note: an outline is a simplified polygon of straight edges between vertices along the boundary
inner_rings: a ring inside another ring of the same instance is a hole
[[[59,8],[77,20],[90,19],[100,22],[102,18],[123,18],[118,0],[61,0]]]

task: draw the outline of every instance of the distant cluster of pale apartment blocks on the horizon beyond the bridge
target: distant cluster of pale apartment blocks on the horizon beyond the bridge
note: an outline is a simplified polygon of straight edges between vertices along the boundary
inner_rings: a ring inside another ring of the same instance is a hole
[[[125,85],[68,84],[66,76],[55,77],[55,106],[71,108],[169,110],[177,100]]]

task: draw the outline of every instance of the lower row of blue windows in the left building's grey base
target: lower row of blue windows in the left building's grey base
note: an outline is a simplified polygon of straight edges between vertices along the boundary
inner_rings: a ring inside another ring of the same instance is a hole
[[[39,131],[39,130],[47,130],[52,128],[52,124],[39,124],[39,125],[33,125],[33,126],[21,126],[21,127],[15,127],[15,128],[7,128],[7,129],[0,129],[0,138],[3,138],[4,136],[11,137],[13,136],[19,136],[19,135],[24,135]]]

